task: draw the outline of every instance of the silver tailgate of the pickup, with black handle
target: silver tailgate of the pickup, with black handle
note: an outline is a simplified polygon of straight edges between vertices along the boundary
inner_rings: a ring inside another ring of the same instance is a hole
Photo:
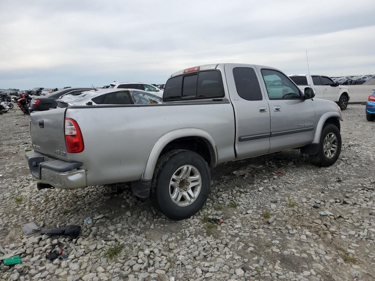
[[[37,152],[64,159],[66,153],[64,118],[66,108],[32,112],[30,136]]]

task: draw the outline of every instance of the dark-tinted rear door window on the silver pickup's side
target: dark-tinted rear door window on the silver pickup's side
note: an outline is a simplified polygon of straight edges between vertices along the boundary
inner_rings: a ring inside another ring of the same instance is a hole
[[[237,93],[245,100],[263,100],[259,81],[254,69],[236,67],[233,69],[234,82]]]

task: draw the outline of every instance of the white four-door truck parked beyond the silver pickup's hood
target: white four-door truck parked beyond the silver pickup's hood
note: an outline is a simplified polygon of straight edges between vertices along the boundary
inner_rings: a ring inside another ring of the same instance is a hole
[[[323,75],[293,74],[288,76],[301,90],[308,86],[312,87],[315,91],[315,98],[332,100],[340,106],[341,110],[347,109],[350,99],[348,87],[339,85],[338,82]]]

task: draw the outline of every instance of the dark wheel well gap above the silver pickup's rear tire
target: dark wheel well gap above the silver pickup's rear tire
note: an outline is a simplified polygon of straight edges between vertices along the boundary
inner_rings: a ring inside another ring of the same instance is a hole
[[[202,156],[202,158],[207,162],[209,166],[214,165],[212,163],[213,151],[210,150],[209,142],[203,138],[199,137],[184,137],[175,139],[169,142],[160,152],[159,158],[164,155],[165,153],[175,150],[175,149],[186,149],[190,151],[194,151]],[[211,145],[210,145],[211,146]]]

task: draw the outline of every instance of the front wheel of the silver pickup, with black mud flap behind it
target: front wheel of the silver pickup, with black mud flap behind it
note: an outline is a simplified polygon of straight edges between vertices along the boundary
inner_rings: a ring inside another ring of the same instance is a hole
[[[318,152],[309,155],[311,162],[321,167],[331,166],[340,156],[341,145],[339,128],[333,124],[327,124],[320,135]]]

